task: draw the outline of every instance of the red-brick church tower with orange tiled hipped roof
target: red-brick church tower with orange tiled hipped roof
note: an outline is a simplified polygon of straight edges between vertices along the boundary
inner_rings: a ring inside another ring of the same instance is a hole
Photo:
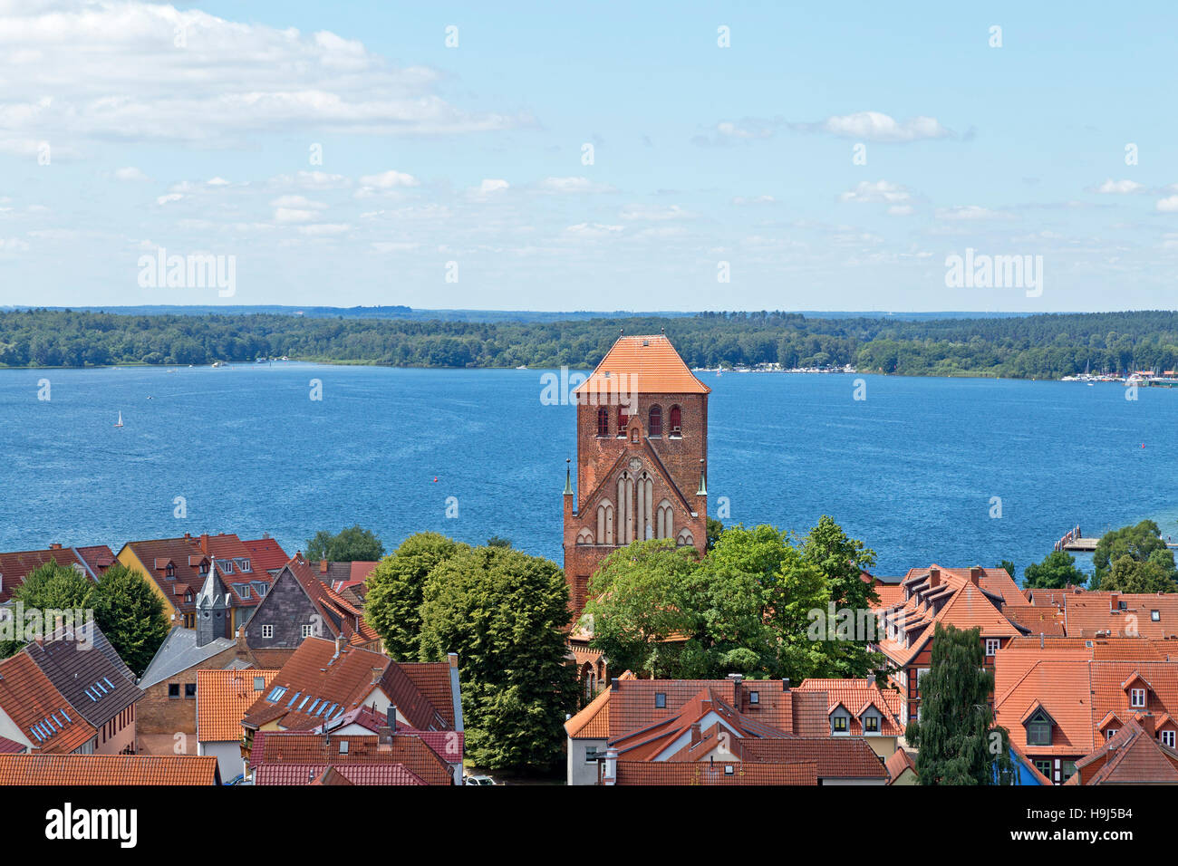
[[[622,336],[574,396],[577,478],[564,488],[573,619],[598,563],[633,541],[674,538],[703,555],[708,394],[663,335]]]

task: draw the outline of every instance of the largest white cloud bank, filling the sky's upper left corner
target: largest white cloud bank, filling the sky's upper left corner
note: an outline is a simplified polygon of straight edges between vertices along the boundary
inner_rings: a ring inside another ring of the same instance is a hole
[[[357,40],[138,0],[0,2],[0,81],[9,151],[67,135],[227,146],[299,128],[435,134],[534,123],[451,105],[435,70],[392,66]]]

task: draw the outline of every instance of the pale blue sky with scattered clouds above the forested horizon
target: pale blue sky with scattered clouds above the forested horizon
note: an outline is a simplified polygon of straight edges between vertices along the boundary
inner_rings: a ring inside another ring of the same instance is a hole
[[[796,6],[0,0],[0,304],[1174,308],[1171,6]]]

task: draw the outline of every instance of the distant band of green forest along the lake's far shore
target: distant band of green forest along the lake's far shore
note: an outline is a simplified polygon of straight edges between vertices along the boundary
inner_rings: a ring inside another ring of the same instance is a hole
[[[287,356],[391,366],[593,366],[618,332],[667,336],[690,366],[854,364],[904,376],[1058,378],[1178,369],[1178,312],[808,318],[706,312],[567,322],[0,312],[0,365],[210,364]]]

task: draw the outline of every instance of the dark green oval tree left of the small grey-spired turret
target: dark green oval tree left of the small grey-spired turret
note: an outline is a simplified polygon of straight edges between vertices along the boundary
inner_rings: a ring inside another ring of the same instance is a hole
[[[93,594],[94,622],[135,676],[151,663],[167,636],[164,601],[147,580],[123,563],[114,563]]]

